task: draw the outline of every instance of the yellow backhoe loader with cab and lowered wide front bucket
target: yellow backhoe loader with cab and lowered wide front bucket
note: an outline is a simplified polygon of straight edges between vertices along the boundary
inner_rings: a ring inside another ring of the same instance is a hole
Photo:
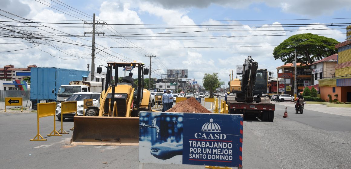
[[[108,62],[105,83],[102,80],[100,107],[88,107],[85,116],[74,117],[71,145],[128,145],[139,142],[139,112],[152,111],[150,91],[144,89],[143,63]],[[118,82],[123,71],[138,70],[138,84],[131,78]],[[102,67],[97,68],[101,74]],[[114,82],[112,77],[114,76]]]

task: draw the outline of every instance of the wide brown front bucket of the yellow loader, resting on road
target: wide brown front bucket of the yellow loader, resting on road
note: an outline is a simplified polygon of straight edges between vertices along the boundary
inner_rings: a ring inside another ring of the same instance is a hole
[[[139,145],[139,117],[74,116],[71,145]]]

